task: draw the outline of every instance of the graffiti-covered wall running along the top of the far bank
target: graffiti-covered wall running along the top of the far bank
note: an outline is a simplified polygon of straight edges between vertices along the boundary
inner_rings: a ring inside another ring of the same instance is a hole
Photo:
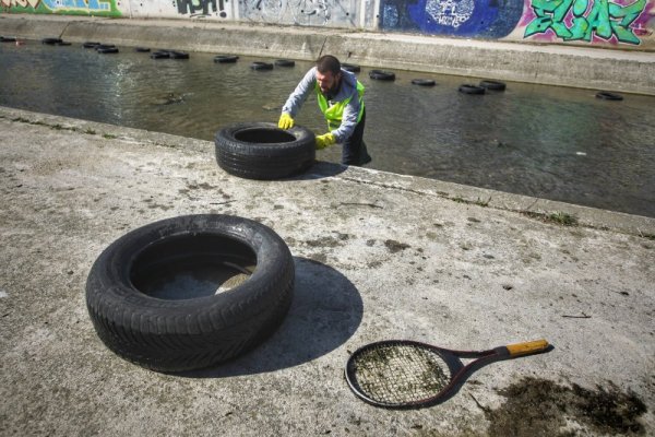
[[[0,0],[0,5],[9,13],[203,19],[655,49],[655,0]]]

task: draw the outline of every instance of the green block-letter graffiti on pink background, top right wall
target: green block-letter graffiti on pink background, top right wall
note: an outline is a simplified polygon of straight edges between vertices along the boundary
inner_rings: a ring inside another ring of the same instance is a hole
[[[609,0],[532,0],[534,16],[525,27],[524,37],[549,32],[564,42],[592,42],[597,37],[641,44],[635,31],[643,28],[638,19],[647,15],[646,5],[646,0],[630,4]]]

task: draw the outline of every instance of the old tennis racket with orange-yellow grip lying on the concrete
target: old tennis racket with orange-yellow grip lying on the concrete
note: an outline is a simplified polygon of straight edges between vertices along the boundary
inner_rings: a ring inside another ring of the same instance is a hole
[[[427,406],[454,394],[468,375],[495,361],[545,352],[546,340],[488,351],[453,351],[409,340],[367,344],[346,363],[346,381],[364,401],[392,409]],[[475,358],[464,365],[461,358]]]

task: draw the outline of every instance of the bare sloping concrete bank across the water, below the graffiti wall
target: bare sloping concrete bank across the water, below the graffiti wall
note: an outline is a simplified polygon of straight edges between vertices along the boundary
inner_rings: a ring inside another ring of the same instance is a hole
[[[655,54],[636,50],[318,27],[29,14],[0,15],[0,35],[303,60],[332,54],[342,61],[376,68],[655,95]]]

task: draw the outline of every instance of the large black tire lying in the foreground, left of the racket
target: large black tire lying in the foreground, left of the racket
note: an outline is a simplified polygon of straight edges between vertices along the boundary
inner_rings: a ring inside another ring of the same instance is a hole
[[[204,265],[206,272],[251,262],[252,274],[226,292],[175,300],[147,294],[170,269]],[[88,274],[86,306],[116,354],[153,370],[182,371],[234,358],[271,335],[288,311],[294,281],[289,249],[271,228],[229,215],[187,215],[140,227],[107,247]]]

